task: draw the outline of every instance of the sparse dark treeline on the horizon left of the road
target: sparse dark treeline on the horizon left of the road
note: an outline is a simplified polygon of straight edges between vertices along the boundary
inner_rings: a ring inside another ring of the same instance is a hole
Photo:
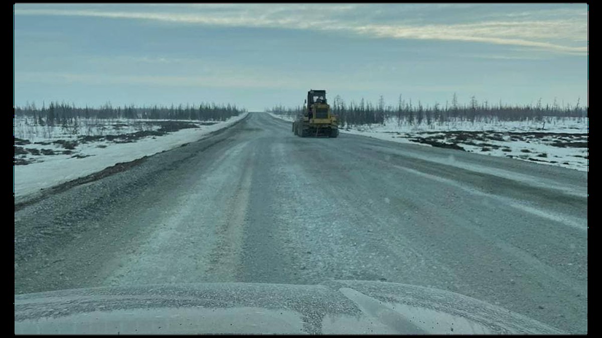
[[[48,106],[43,104],[41,108],[35,103],[27,103],[24,107],[16,106],[14,114],[33,117],[39,124],[66,124],[72,123],[76,118],[147,118],[147,119],[170,119],[170,120],[227,120],[229,117],[245,112],[245,109],[235,105],[216,105],[216,103],[201,103],[200,105],[178,105],[178,106],[113,106],[105,103],[100,108],[76,107],[68,103],[51,102]]]

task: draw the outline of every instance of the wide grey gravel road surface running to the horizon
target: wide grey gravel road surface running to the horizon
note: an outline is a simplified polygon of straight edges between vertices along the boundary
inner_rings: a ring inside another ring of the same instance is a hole
[[[433,286],[587,332],[587,173],[252,113],[17,206],[15,293],[151,283]]]

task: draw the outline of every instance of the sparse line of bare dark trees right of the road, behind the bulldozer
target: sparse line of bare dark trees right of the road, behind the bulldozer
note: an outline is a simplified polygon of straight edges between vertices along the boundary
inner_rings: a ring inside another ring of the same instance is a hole
[[[577,100],[573,105],[566,104],[561,106],[554,100],[553,104],[543,105],[541,99],[535,105],[504,105],[499,102],[491,104],[487,101],[478,102],[476,97],[471,97],[470,103],[458,103],[458,97],[454,94],[452,102],[445,102],[445,105],[435,103],[435,105],[423,105],[422,102],[412,102],[405,100],[400,95],[396,105],[385,105],[382,96],[379,102],[373,105],[364,99],[359,103],[351,101],[344,102],[340,96],[336,96],[330,103],[332,112],[338,116],[341,126],[360,125],[360,124],[384,124],[386,120],[397,120],[399,124],[423,124],[445,123],[454,121],[523,121],[523,120],[542,120],[544,116],[551,117],[587,117],[588,108],[580,105]],[[275,106],[268,111],[276,114],[290,115],[294,117],[303,111],[302,106],[287,108],[284,106]]]

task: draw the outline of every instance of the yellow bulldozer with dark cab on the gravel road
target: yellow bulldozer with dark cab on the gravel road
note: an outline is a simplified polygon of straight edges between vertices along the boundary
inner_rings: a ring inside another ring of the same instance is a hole
[[[309,90],[302,113],[293,122],[293,133],[299,137],[337,137],[337,117],[326,102],[326,90]]]

